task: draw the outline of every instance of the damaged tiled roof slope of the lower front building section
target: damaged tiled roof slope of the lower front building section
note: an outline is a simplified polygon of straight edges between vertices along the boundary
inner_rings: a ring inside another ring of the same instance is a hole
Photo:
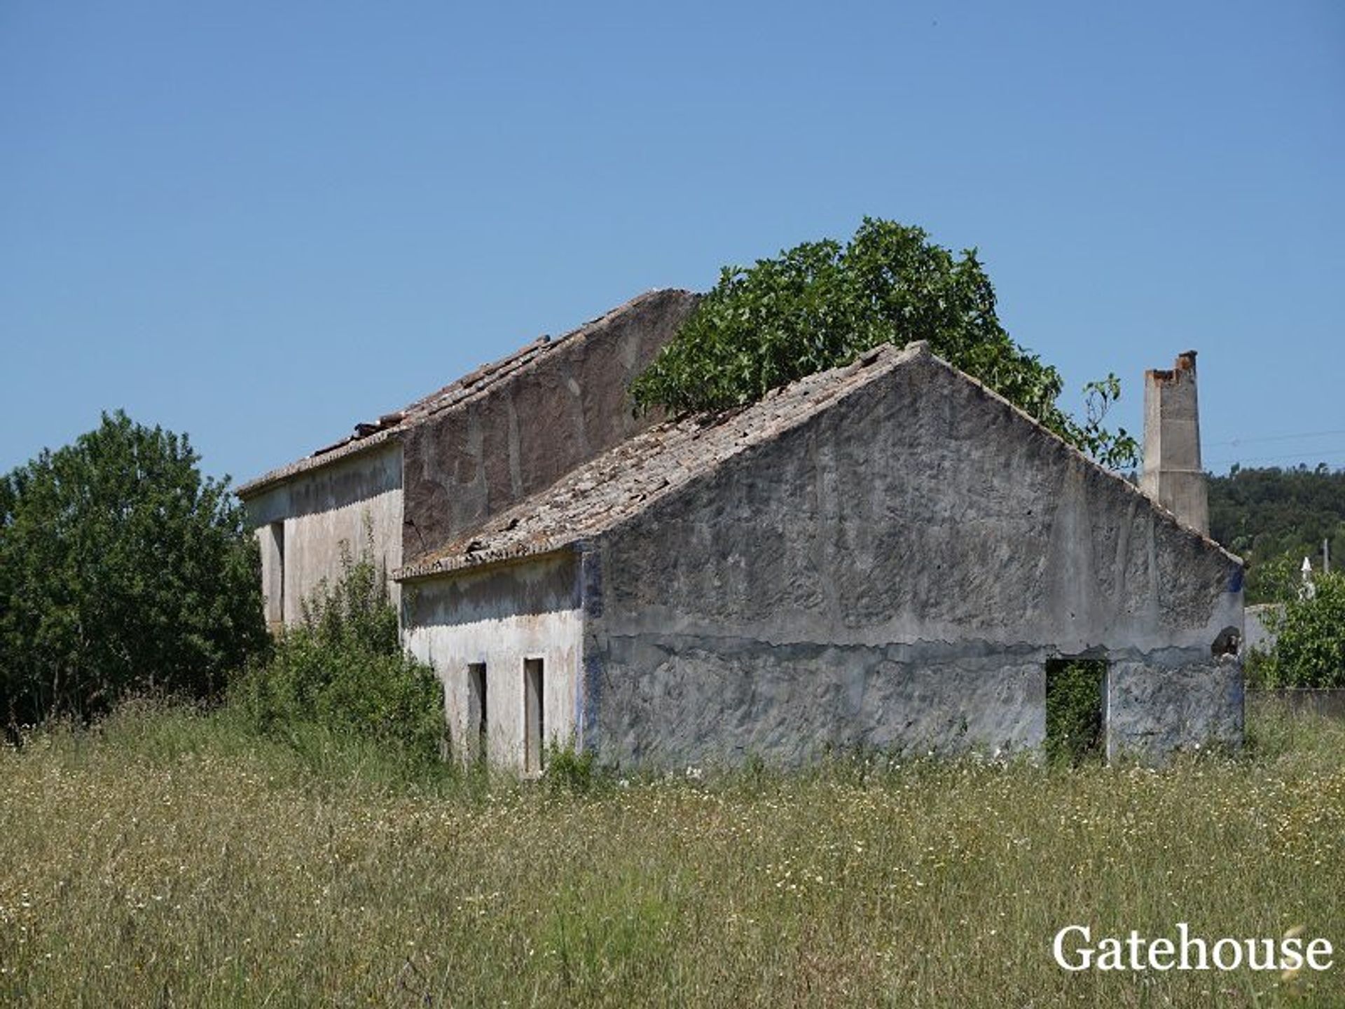
[[[800,378],[760,401],[713,416],[655,425],[570,471],[547,490],[500,513],[441,550],[393,573],[397,580],[461,570],[562,549],[603,533],[672,494],[730,456],[769,441],[846,393],[929,354],[924,340],[884,344],[843,367]]]

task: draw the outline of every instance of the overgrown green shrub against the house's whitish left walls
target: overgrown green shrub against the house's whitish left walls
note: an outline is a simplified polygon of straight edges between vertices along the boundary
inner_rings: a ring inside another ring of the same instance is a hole
[[[408,655],[387,576],[342,553],[342,577],[304,600],[303,620],[278,635],[231,701],[258,732],[295,739],[311,728],[393,747],[413,761],[438,760],[444,694],[434,671]]]

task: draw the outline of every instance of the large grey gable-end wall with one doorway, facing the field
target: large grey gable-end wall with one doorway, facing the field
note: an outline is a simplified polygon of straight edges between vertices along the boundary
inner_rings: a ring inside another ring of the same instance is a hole
[[[1049,658],[1107,658],[1114,752],[1237,741],[1241,568],[923,357],[590,545],[584,744],[779,763],[1044,739]]]

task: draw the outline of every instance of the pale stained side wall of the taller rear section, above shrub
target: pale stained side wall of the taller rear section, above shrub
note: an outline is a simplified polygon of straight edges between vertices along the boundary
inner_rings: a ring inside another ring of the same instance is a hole
[[[395,443],[347,456],[331,465],[285,480],[249,498],[249,519],[257,526],[262,548],[262,591],[268,618],[281,616],[277,595],[284,597],[284,620],[301,616],[303,599],[323,578],[340,577],[344,544],[355,556],[373,534],[373,560],[389,572],[402,560],[402,455]],[[273,525],[277,523],[277,525]],[[282,537],[276,533],[284,529]],[[280,554],[284,552],[284,576]],[[393,599],[397,584],[389,583]]]

